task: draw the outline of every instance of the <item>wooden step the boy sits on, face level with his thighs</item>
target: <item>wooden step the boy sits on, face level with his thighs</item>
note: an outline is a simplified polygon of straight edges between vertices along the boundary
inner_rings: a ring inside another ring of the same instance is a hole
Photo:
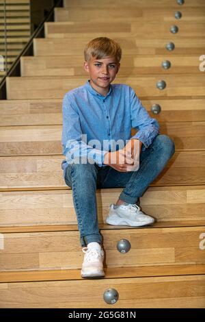
[[[0,158],[0,190],[67,188],[61,170],[64,156],[18,156]],[[205,184],[205,152],[176,151],[150,186]]]

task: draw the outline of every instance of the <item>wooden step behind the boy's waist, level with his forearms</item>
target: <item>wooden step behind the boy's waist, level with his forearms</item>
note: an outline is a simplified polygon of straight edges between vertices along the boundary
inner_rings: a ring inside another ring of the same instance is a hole
[[[176,151],[205,151],[205,122],[159,123],[160,134],[174,140]],[[132,136],[136,134],[132,130]],[[0,156],[61,154],[61,125],[0,127]],[[190,136],[191,133],[191,136]]]

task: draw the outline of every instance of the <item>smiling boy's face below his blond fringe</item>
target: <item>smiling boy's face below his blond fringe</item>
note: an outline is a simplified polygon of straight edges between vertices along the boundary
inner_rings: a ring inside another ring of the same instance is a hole
[[[90,75],[90,85],[100,94],[106,95],[109,92],[109,84],[120,69],[120,63],[113,57],[100,60],[92,57],[89,62],[84,62],[84,68]]]

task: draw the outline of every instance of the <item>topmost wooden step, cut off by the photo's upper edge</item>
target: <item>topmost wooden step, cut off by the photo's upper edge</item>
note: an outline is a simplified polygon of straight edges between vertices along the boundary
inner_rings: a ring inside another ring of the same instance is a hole
[[[205,6],[204,0],[185,0],[184,5],[178,5],[176,1],[170,0],[147,0],[143,2],[141,0],[113,0],[111,3],[109,0],[104,0],[98,4],[98,8],[174,8],[174,9],[182,9],[184,7],[194,7],[194,8],[202,8]],[[96,1],[94,0],[64,0],[65,8],[96,8]]]

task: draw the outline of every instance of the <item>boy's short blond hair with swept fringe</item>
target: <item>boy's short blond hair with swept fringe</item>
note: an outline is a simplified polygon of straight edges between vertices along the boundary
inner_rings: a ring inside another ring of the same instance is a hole
[[[118,42],[107,37],[94,38],[85,46],[84,57],[85,62],[89,62],[90,58],[102,59],[105,57],[115,57],[120,62],[122,49]]]

